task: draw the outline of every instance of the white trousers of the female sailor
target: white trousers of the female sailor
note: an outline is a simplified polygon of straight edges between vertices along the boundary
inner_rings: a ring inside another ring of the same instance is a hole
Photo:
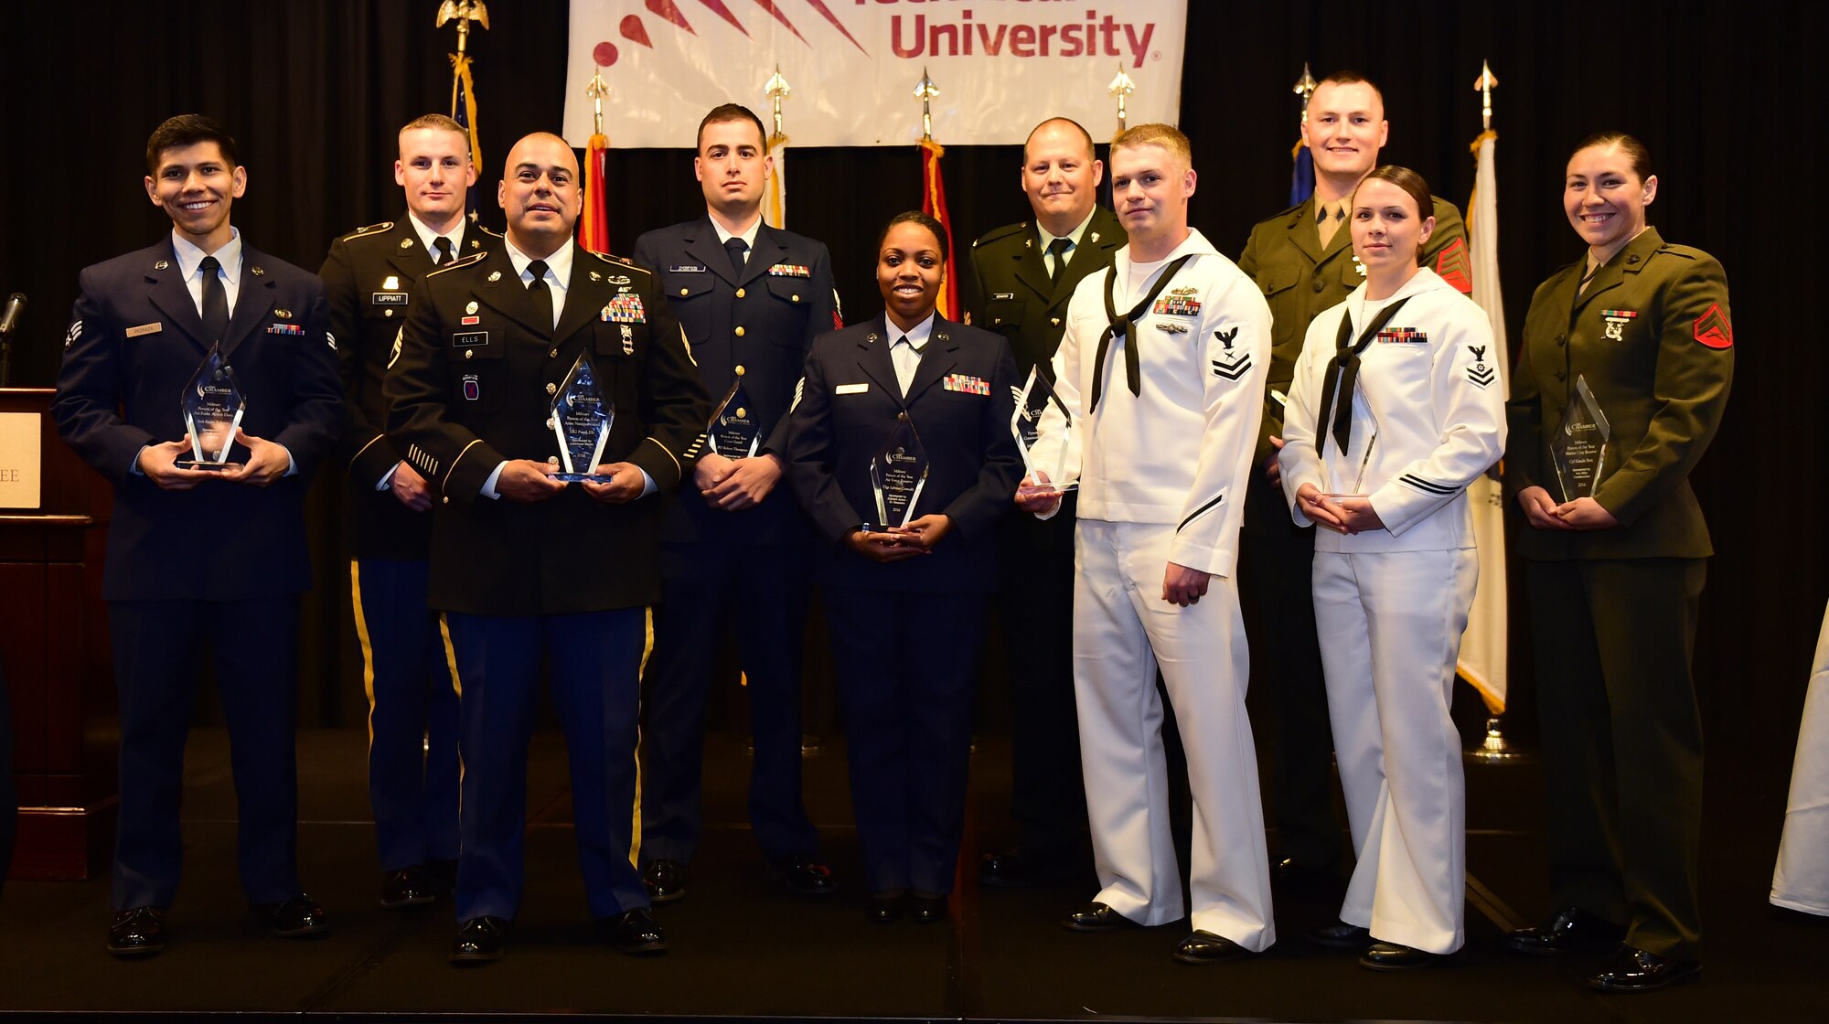
[[[1425,953],[1465,942],[1467,783],[1449,717],[1472,549],[1315,552],[1333,755],[1359,863],[1341,920]]]

